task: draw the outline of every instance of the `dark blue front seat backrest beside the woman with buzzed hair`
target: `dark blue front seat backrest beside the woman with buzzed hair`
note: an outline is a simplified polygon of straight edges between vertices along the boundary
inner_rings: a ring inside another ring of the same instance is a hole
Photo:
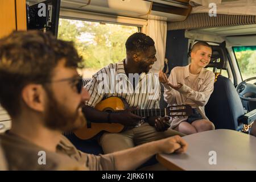
[[[205,114],[216,129],[239,130],[238,118],[244,114],[242,102],[229,78],[218,76]]]

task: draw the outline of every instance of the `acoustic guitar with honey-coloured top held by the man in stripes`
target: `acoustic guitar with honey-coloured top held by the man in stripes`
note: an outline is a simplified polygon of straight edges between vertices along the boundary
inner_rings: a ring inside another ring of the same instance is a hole
[[[99,102],[95,109],[100,111],[108,111],[111,113],[120,113],[127,109],[128,104],[125,100],[119,97],[109,97]],[[190,105],[173,105],[164,109],[137,109],[131,111],[133,114],[141,117],[154,117],[168,115],[171,117],[188,116],[192,114],[192,107]],[[100,133],[101,131],[108,131],[110,133],[119,133],[125,126],[120,123],[97,123],[87,121],[86,125],[74,133],[80,139],[90,139]]]

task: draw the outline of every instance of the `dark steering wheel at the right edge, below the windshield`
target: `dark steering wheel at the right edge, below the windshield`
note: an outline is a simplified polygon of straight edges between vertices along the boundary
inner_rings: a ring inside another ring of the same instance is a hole
[[[247,81],[254,79],[256,80],[256,77],[247,78],[237,85],[237,93],[241,100],[256,101],[256,83],[247,83]]]

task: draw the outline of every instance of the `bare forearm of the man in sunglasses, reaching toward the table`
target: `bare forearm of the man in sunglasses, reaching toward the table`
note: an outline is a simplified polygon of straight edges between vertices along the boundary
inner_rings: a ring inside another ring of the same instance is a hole
[[[158,144],[150,142],[124,151],[114,152],[115,168],[117,170],[134,170],[145,163],[151,156],[158,154]],[[131,160],[127,160],[131,159]]]

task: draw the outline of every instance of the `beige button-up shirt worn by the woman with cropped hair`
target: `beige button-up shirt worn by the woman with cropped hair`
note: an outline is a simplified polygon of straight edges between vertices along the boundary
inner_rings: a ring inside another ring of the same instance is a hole
[[[204,119],[208,119],[205,115],[204,106],[207,104],[210,94],[213,92],[215,75],[212,71],[205,68],[201,69],[199,76],[195,81],[191,81],[189,77],[189,65],[185,67],[175,67],[172,69],[168,80],[173,85],[181,82],[183,86],[179,90],[172,89],[164,84],[164,101],[171,104],[191,104],[196,107]],[[188,102],[188,103],[187,103]],[[180,117],[172,119],[171,128],[179,125],[180,122],[187,120],[188,117]]]

